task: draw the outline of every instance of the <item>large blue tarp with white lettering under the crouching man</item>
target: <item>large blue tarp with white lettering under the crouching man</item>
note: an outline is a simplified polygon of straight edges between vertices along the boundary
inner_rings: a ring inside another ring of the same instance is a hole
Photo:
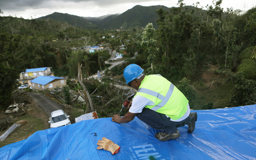
[[[176,140],[158,141],[158,131],[137,118],[126,124],[101,118],[37,131],[0,148],[0,159],[255,159],[256,105],[196,111],[195,131],[180,127]],[[97,150],[102,137],[120,151]]]

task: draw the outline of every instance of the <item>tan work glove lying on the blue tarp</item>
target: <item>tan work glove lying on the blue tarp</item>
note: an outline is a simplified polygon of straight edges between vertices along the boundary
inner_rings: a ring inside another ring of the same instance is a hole
[[[97,149],[104,149],[106,151],[111,151],[112,154],[118,153],[120,146],[118,146],[117,144],[115,144],[114,142],[112,142],[109,139],[106,138],[102,138],[102,140],[99,140],[97,145],[99,145],[97,147]]]

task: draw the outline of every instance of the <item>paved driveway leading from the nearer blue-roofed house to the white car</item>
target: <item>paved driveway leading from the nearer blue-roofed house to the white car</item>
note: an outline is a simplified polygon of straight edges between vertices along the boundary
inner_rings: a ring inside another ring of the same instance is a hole
[[[39,93],[29,93],[28,94],[35,102],[36,105],[44,109],[44,111],[50,116],[51,112],[58,109],[65,109],[65,107],[57,102],[51,100],[50,98],[39,94]]]

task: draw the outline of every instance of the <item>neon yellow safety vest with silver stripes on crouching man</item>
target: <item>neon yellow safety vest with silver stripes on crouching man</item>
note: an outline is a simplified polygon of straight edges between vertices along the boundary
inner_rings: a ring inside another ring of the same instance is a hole
[[[155,105],[145,106],[178,120],[187,111],[188,100],[180,90],[161,75],[145,76],[135,97],[139,95],[150,99]]]

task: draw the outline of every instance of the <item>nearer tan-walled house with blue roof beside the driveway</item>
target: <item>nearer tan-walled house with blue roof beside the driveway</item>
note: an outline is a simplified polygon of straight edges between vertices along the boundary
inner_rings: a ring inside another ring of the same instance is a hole
[[[37,90],[44,90],[44,89],[52,90],[57,86],[61,88],[62,86],[66,85],[66,82],[67,82],[66,78],[54,77],[54,76],[39,76],[30,81],[33,89],[37,89]]]

